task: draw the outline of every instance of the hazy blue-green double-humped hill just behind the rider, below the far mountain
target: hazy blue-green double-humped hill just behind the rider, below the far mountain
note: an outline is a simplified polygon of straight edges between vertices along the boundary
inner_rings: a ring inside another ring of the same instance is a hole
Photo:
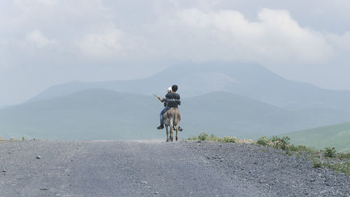
[[[165,136],[156,130],[162,103],[151,95],[87,89],[0,109],[0,137],[59,140],[135,140]],[[350,120],[348,111],[288,111],[232,93],[182,99],[181,137],[202,132],[256,139]],[[335,114],[342,116],[335,116]]]

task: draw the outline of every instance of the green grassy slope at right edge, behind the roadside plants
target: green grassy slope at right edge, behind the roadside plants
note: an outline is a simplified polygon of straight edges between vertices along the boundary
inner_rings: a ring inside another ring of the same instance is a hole
[[[350,122],[286,133],[294,144],[304,144],[316,149],[335,147],[350,153]]]

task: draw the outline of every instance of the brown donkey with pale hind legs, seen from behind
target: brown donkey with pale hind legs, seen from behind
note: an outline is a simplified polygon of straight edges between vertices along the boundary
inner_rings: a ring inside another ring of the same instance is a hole
[[[163,123],[165,124],[165,129],[167,130],[167,142],[174,141],[174,127],[176,127],[176,141],[178,140],[177,133],[179,132],[179,126],[181,121],[181,114],[179,109],[176,107],[170,108],[163,114]],[[169,130],[168,126],[170,126],[170,138],[169,138]]]

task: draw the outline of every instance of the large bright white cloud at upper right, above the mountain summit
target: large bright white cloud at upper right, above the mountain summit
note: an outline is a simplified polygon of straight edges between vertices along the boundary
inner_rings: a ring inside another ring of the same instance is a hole
[[[211,43],[207,50],[199,50],[206,60],[314,64],[327,62],[334,53],[323,34],[300,27],[288,11],[262,9],[256,22],[248,21],[238,11],[189,9],[179,12],[179,18],[188,25],[186,29],[192,28],[191,39],[202,39],[197,43]]]

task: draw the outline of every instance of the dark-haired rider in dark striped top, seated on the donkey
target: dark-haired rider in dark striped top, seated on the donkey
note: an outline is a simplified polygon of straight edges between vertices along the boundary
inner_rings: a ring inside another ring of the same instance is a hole
[[[167,102],[167,106],[160,112],[160,126],[157,129],[163,129],[163,114],[168,111],[168,109],[172,107],[179,108],[178,106],[181,105],[180,101],[180,95],[176,93],[178,87],[176,85],[172,86],[172,92],[168,92],[167,95],[165,95],[164,102]],[[158,97],[158,99],[162,102],[162,99]],[[182,131],[182,128],[179,127],[179,130]]]

